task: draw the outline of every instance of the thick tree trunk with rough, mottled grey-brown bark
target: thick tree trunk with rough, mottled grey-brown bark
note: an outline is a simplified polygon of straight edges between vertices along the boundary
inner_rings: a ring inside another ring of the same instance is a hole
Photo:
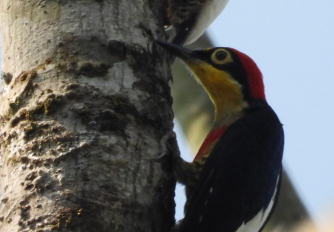
[[[0,231],[168,231],[170,74],[153,1],[1,0]]]

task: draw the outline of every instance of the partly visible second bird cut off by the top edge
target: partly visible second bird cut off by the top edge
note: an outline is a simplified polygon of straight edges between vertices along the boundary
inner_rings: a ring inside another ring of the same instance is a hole
[[[167,18],[176,30],[172,43],[183,45],[197,40],[228,2],[229,0],[168,0]]]

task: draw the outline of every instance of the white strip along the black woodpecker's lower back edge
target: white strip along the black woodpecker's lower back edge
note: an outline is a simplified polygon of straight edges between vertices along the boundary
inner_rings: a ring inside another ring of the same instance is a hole
[[[251,220],[249,220],[246,224],[245,222],[242,223],[242,225],[237,229],[236,232],[257,232],[259,231],[259,229],[262,227],[262,225],[264,224],[265,220],[267,219],[275,198],[276,198],[276,194],[277,194],[277,185],[279,184],[279,179],[280,176],[277,177],[277,181],[276,181],[276,187],[275,187],[275,191],[271,197],[271,200],[268,204],[268,207],[266,209],[262,208]]]

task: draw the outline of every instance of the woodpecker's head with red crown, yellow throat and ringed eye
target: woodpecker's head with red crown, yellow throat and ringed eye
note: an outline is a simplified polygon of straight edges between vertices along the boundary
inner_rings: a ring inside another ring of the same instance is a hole
[[[163,41],[157,43],[182,59],[203,85],[215,106],[216,123],[229,124],[253,100],[265,101],[261,71],[246,54],[227,47],[192,51]]]

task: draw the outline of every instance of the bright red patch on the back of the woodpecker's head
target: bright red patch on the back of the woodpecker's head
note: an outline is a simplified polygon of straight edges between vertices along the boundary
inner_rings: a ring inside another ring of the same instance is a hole
[[[254,60],[234,48],[230,49],[239,57],[240,62],[246,70],[251,96],[255,99],[265,100],[262,73]]]

